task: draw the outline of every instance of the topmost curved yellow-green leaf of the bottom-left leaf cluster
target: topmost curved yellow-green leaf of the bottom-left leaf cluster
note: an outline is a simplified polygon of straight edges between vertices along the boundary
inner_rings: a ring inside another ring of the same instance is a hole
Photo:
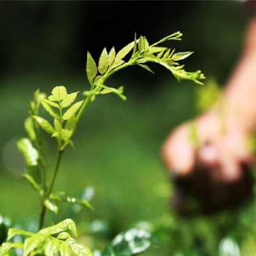
[[[67,229],[69,229],[75,236],[77,236],[76,224],[71,219],[66,219],[51,227],[43,228],[38,233],[49,236],[52,234],[58,234],[60,232],[66,231]]]

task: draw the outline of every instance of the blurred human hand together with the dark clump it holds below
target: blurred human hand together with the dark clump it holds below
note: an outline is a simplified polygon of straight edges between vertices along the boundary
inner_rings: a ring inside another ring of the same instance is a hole
[[[193,198],[204,213],[237,207],[252,192],[249,132],[236,115],[220,119],[214,111],[196,118],[193,125],[197,145],[189,136],[189,123],[177,127],[163,145],[164,163],[174,177],[173,207],[183,214],[193,212]]]

